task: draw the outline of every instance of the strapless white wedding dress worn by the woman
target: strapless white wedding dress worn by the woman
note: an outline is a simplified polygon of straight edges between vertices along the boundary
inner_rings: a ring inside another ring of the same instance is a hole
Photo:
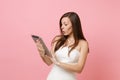
[[[60,48],[56,51],[56,57],[60,62],[63,63],[77,63],[79,58],[79,51],[73,49],[68,56],[68,47]],[[75,73],[67,71],[57,65],[53,65],[52,70],[50,71],[47,80],[77,80]]]

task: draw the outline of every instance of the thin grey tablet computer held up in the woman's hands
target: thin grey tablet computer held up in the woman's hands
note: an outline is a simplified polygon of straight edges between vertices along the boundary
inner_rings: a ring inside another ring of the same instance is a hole
[[[45,55],[48,55],[49,57],[52,57],[49,49],[46,47],[45,42],[43,41],[43,39],[40,36],[37,35],[31,35],[32,39],[36,42],[36,40],[40,40],[44,50],[45,50]]]

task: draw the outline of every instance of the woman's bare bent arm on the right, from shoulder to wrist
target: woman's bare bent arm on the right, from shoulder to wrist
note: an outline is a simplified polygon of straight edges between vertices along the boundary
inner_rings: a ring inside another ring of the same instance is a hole
[[[57,64],[58,66],[66,69],[66,70],[81,73],[83,68],[84,68],[86,59],[87,59],[88,44],[87,44],[87,42],[83,41],[82,44],[80,44],[80,46],[81,46],[81,49],[80,49],[80,57],[79,57],[78,63],[76,63],[76,64],[74,64],[74,63],[73,64],[72,63],[67,64],[67,63],[62,63],[62,62],[57,62],[57,63],[55,62],[55,64]]]

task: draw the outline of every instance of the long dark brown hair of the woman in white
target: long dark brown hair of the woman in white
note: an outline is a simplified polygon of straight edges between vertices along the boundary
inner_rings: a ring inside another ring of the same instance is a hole
[[[80,22],[80,18],[78,16],[78,14],[75,12],[67,12],[62,15],[62,17],[60,18],[60,21],[59,21],[61,35],[59,35],[60,39],[57,40],[57,43],[55,46],[55,51],[58,50],[66,42],[66,40],[68,38],[68,36],[65,36],[62,34],[62,30],[61,30],[61,26],[62,26],[61,20],[64,17],[68,17],[70,19],[70,21],[72,23],[73,36],[75,39],[75,43],[73,44],[70,51],[72,51],[72,49],[78,45],[80,39],[86,40],[83,35],[83,32],[82,32],[82,26],[81,26],[81,22]],[[69,53],[70,53],[70,51],[69,51]]]

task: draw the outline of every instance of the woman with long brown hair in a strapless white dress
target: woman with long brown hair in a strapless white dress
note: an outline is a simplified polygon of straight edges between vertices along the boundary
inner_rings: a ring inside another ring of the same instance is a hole
[[[53,58],[45,55],[39,41],[36,42],[43,61],[54,64],[47,80],[77,80],[75,73],[81,73],[89,52],[81,27],[79,16],[75,12],[67,12],[60,18],[61,35],[52,41],[51,54]]]

